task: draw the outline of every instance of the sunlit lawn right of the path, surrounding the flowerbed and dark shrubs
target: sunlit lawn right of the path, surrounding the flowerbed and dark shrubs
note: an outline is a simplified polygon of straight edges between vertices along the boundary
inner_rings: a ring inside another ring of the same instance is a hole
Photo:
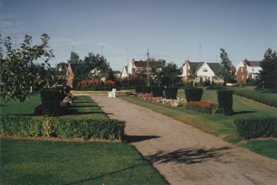
[[[184,98],[184,89],[178,91],[178,96],[179,98]],[[276,116],[276,109],[274,107],[262,105],[236,95],[233,95],[233,110],[235,112],[233,116],[224,116],[222,114],[200,114],[188,111],[184,109],[184,107],[171,107],[168,105],[151,103],[134,96],[123,96],[120,98],[127,100],[130,103],[148,107],[156,112],[160,112],[161,114],[176,118],[177,120],[193,125],[204,132],[219,136],[230,143],[237,143],[240,141],[240,138],[235,131],[235,125],[233,124],[234,118]],[[217,103],[216,91],[204,90],[202,100]],[[262,143],[256,144],[262,145]],[[262,154],[262,152],[259,153]],[[277,156],[277,151],[274,155]]]

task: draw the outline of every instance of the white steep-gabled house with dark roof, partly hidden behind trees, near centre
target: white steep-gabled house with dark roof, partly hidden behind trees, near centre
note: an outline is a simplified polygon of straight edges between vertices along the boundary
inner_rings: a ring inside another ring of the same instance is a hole
[[[152,67],[158,66],[159,64],[160,64],[159,62],[150,61],[149,70],[151,70]],[[120,78],[127,78],[129,75],[134,75],[136,70],[147,69],[147,67],[148,67],[147,61],[143,61],[143,60],[136,61],[133,59],[132,62],[130,62],[127,66],[123,67]]]

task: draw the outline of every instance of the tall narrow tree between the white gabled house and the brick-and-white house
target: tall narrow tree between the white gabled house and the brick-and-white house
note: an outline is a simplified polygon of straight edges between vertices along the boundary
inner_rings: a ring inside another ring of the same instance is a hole
[[[224,80],[224,83],[233,82],[235,79],[235,73],[231,70],[232,62],[229,60],[228,55],[224,49],[220,49],[220,51],[221,69],[217,75]]]

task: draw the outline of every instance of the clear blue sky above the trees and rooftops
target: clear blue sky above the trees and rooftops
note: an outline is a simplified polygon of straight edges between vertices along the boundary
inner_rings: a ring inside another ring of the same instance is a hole
[[[262,60],[277,50],[276,0],[0,0],[1,35],[19,46],[24,35],[38,44],[47,33],[55,58],[66,62],[74,49],[80,58],[101,53],[114,70],[150,56],[175,62],[220,62],[220,48],[234,65]],[[72,47],[73,46],[73,47]]]

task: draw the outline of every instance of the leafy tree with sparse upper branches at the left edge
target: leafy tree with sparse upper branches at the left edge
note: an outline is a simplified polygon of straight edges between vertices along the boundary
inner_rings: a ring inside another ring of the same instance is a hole
[[[44,33],[41,39],[42,44],[31,46],[32,37],[26,35],[18,49],[12,49],[10,37],[0,39],[1,96],[4,100],[24,101],[30,95],[30,89],[36,90],[53,85],[51,78],[46,76],[46,68],[50,68],[48,61],[54,58],[53,51],[48,46],[50,37]],[[6,53],[3,60],[2,46],[5,47]],[[44,62],[35,64],[39,59]]]

